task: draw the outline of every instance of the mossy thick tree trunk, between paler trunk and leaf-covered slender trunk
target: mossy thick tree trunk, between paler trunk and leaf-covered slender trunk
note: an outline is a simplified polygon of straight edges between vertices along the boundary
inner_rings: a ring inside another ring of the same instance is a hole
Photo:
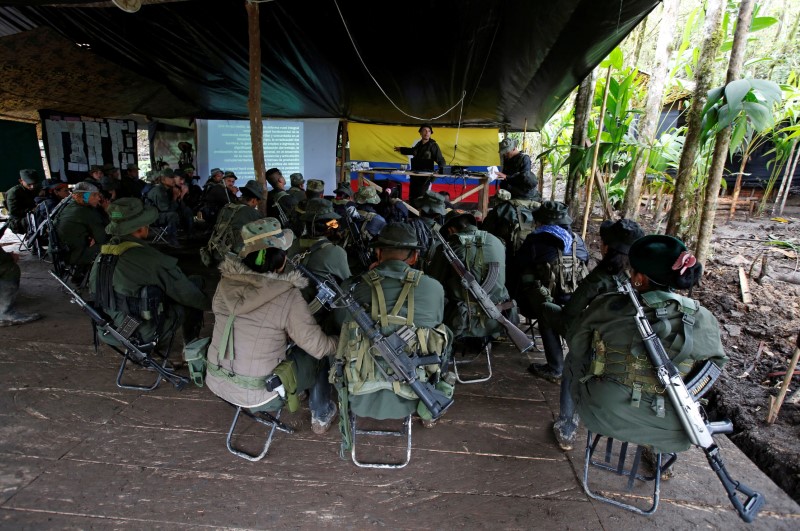
[[[709,0],[706,6],[706,21],[703,26],[703,42],[700,46],[700,57],[695,71],[695,90],[689,114],[686,119],[686,138],[683,142],[678,174],[675,176],[672,208],[667,219],[666,233],[679,238],[686,238],[688,232],[689,207],[694,202],[690,197],[692,173],[697,152],[700,148],[701,113],[706,103],[708,90],[711,88],[712,68],[722,41],[722,0]]]

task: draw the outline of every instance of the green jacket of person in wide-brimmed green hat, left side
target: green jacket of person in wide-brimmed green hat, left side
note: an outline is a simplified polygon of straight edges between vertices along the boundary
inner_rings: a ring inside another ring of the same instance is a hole
[[[144,340],[153,337],[157,326],[159,331],[163,331],[172,329],[180,323],[181,312],[175,308],[175,305],[198,310],[211,309],[211,301],[197,285],[183,274],[178,267],[177,258],[168,256],[149,246],[144,240],[130,235],[114,237],[107,245],[119,245],[122,242],[133,242],[138,245],[120,255],[112,279],[114,291],[126,297],[137,297],[144,286],[157,286],[161,288],[171,303],[160,323],[152,321],[142,323],[138,333]],[[103,251],[110,251],[110,249],[104,246]],[[97,292],[98,264],[99,257],[95,260],[89,276],[89,289],[93,295]],[[117,325],[120,325],[125,318],[125,314],[119,311],[109,311],[108,314]]]

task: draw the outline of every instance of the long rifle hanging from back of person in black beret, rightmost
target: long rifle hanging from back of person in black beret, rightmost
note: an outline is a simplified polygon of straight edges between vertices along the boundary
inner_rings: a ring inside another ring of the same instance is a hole
[[[707,422],[703,418],[700,405],[692,398],[692,394],[686,387],[683,378],[681,378],[680,372],[678,372],[675,364],[672,363],[672,360],[664,350],[661,340],[653,332],[650,321],[647,320],[647,316],[644,314],[642,305],[639,303],[639,298],[633,286],[631,286],[630,280],[620,281],[617,279],[617,286],[620,293],[627,293],[630,295],[631,301],[633,301],[633,306],[636,308],[636,327],[639,329],[642,342],[647,349],[647,356],[655,369],[658,381],[669,395],[669,400],[675,409],[675,414],[678,415],[681,421],[681,425],[683,425],[683,429],[686,431],[686,435],[689,436],[692,444],[700,447],[705,452],[711,469],[716,472],[717,477],[722,482],[722,486],[728,493],[728,498],[734,509],[739,513],[739,517],[745,522],[752,522],[764,505],[764,495],[738,481],[734,481],[730,477],[725,469],[725,463],[722,461],[719,447],[714,442],[713,437],[717,433],[727,434],[733,432],[733,424],[729,420]],[[737,492],[741,492],[747,497],[744,503],[737,497]]]

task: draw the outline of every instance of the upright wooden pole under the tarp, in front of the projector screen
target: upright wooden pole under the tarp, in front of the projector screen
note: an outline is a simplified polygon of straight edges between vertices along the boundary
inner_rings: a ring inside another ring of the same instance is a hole
[[[261,121],[261,22],[258,4],[247,2],[247,33],[250,38],[250,94],[247,109],[250,113],[250,144],[253,150],[253,169],[256,180],[264,189],[259,209],[267,210],[266,169],[264,164],[264,128]]]

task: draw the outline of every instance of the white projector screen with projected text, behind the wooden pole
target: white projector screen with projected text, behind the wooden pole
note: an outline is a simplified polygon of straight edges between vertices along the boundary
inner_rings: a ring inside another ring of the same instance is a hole
[[[286,178],[300,172],[325,181],[325,195],[336,187],[337,119],[264,120],[265,169],[278,168]],[[200,185],[211,168],[232,171],[236,186],[255,179],[248,120],[197,120],[196,174]]]

